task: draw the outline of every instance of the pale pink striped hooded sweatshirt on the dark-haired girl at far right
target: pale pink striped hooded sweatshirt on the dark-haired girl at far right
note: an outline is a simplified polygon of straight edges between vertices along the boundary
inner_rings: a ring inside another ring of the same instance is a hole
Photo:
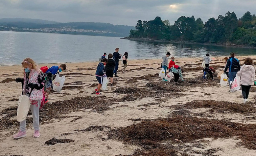
[[[255,69],[252,65],[243,65],[237,72],[241,78],[241,85],[250,86],[255,80]]]

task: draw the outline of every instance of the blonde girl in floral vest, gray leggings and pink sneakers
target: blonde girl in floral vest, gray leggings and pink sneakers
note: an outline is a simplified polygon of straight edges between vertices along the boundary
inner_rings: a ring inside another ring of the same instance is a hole
[[[33,116],[33,137],[39,137],[39,107],[43,98],[44,76],[43,72],[37,67],[36,62],[30,58],[24,59],[21,63],[24,68],[24,86],[23,95],[29,96],[31,101],[30,110]],[[13,138],[18,139],[27,136],[26,120],[20,122],[20,131],[13,135]]]

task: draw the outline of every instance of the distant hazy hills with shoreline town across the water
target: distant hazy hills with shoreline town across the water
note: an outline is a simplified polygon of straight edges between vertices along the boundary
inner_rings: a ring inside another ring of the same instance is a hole
[[[48,22],[53,22],[53,21],[48,21]],[[80,34],[80,35],[115,36],[115,37],[128,36],[130,33],[130,30],[135,29],[135,27],[133,26],[113,25],[110,23],[70,22],[70,23],[42,24],[42,23],[23,22],[23,21],[6,22],[6,20],[2,20],[2,19],[0,19],[0,26],[8,27],[8,28],[2,28],[2,30],[4,29],[7,31],[8,30],[33,31],[33,32]],[[30,29],[30,30],[25,30],[25,29]],[[49,30],[49,29],[53,29],[53,30]],[[81,30],[88,30],[88,31],[81,31]]]

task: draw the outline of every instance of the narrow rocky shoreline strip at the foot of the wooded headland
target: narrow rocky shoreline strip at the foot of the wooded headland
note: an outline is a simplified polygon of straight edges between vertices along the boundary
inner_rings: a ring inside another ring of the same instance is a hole
[[[178,43],[178,44],[197,44],[197,45],[215,45],[215,46],[226,46],[226,47],[239,47],[239,48],[248,48],[248,49],[256,49],[253,46],[244,46],[244,45],[237,45],[237,44],[213,44],[213,43],[199,43],[199,42],[189,42],[189,41],[167,41],[167,40],[153,40],[149,38],[131,38],[131,37],[124,37],[120,39],[127,39],[133,41],[145,41],[145,42],[160,42],[160,43]]]

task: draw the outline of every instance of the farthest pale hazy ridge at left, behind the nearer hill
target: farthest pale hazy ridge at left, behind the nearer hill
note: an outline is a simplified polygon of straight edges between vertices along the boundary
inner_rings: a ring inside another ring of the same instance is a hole
[[[55,21],[47,21],[47,20],[39,20],[39,19],[21,19],[21,18],[0,19],[0,23],[13,23],[13,22],[26,22],[26,23],[35,23],[35,24],[56,24],[56,23],[58,23]]]

